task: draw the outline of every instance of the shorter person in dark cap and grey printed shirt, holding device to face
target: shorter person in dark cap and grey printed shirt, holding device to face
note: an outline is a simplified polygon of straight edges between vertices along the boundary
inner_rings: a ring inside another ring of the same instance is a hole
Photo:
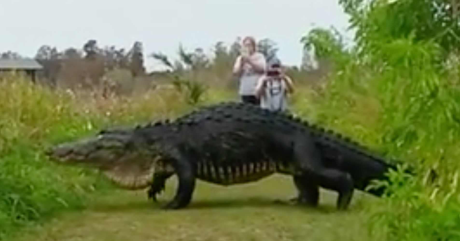
[[[277,58],[270,62],[267,72],[256,85],[260,107],[270,111],[288,111],[288,94],[293,91],[292,79],[282,71],[281,61]]]

